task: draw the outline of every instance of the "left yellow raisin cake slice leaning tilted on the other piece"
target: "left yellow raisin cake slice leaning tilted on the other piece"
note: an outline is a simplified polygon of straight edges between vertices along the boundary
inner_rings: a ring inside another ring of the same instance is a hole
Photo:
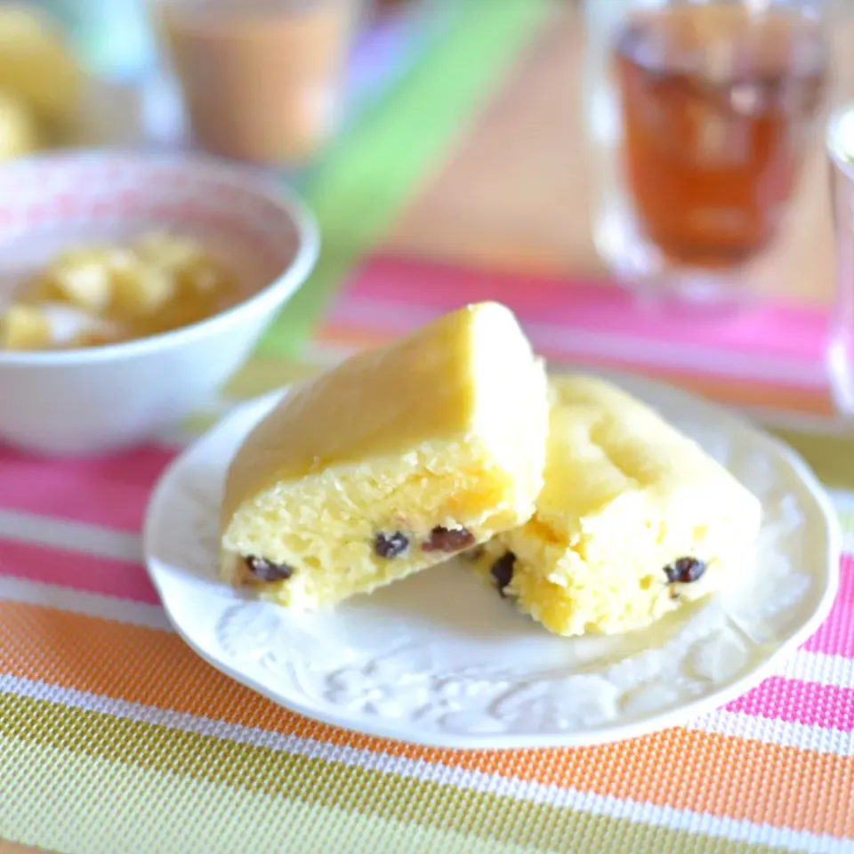
[[[222,577],[285,606],[370,592],[528,519],[544,367],[494,302],[295,389],[246,439],[222,505]]]

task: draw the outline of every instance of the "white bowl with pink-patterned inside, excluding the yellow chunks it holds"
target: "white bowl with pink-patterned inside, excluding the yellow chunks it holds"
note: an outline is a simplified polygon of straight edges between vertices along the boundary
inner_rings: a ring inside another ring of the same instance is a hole
[[[207,157],[92,151],[0,169],[0,305],[65,246],[173,230],[238,270],[247,297],[192,326],[86,350],[0,351],[0,441],[85,455],[149,439],[203,405],[317,261],[302,205]]]

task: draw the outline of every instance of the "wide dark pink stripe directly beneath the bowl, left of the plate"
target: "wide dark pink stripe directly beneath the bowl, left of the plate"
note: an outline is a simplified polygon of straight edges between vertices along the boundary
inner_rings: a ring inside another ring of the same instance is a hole
[[[97,460],[52,460],[0,447],[0,508],[136,531],[173,455],[149,446]]]

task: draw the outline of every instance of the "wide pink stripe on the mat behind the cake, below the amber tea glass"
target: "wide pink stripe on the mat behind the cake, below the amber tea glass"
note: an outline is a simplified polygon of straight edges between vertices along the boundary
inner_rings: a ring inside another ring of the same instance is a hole
[[[436,262],[378,255],[355,274],[347,296],[397,303],[437,313],[465,302],[498,300],[528,323],[624,335],[721,350],[786,357],[808,363],[824,359],[826,311],[778,302],[738,318],[694,322],[651,310],[616,286],[592,280],[561,281],[504,271],[465,269]],[[343,319],[345,314],[334,315]]]

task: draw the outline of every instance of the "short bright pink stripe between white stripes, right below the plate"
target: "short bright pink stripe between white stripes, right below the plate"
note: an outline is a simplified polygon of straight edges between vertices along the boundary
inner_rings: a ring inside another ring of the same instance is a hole
[[[810,727],[854,730],[854,689],[772,676],[727,705],[729,712],[750,714]]]

